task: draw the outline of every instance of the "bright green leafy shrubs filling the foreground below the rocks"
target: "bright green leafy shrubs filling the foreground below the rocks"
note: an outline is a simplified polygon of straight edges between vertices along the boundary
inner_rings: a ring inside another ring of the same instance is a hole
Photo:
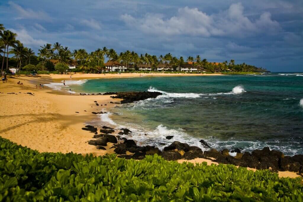
[[[194,166],[39,153],[0,137],[0,201],[302,201],[301,179],[233,165]]]

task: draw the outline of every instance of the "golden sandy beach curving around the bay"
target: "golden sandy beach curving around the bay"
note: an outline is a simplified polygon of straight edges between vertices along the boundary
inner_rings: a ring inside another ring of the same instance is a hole
[[[182,74],[164,73],[141,75],[182,76]],[[187,74],[185,76],[199,75],[215,76],[220,74]],[[110,95],[72,95],[54,91],[47,87],[44,89],[35,87],[36,85],[39,86],[39,83],[45,84],[58,79],[67,80],[69,76],[8,76],[8,82],[0,84],[2,106],[0,136],[40,152],[92,153],[93,155],[113,153],[113,149],[110,149],[112,143],[108,143],[108,146],[105,147],[106,150],[98,150],[95,146],[88,145],[88,140],[91,140],[94,134],[81,130],[81,128],[85,126],[85,122],[99,119],[92,112],[106,111],[116,105],[109,102],[118,102],[120,99],[110,98]],[[135,76],[140,76],[140,74],[75,74],[72,75],[72,79]],[[18,81],[21,81],[24,85],[18,85]],[[32,93],[32,95],[28,93]],[[97,101],[99,106],[96,106],[94,101]],[[178,160],[180,163],[185,161],[191,163],[215,163],[206,159]],[[298,177],[296,173],[288,171],[279,172],[279,176]]]

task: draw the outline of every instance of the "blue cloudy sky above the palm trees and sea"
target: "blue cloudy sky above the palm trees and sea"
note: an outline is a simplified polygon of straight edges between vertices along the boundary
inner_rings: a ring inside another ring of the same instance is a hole
[[[36,54],[59,42],[303,72],[302,0],[1,0],[0,19]]]

